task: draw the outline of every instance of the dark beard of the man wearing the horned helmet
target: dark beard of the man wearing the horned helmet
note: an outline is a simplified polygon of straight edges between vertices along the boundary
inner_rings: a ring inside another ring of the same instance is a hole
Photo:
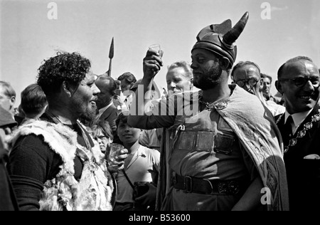
[[[202,75],[193,75],[193,85],[201,90],[208,90],[220,83],[222,68],[217,61],[209,70]]]

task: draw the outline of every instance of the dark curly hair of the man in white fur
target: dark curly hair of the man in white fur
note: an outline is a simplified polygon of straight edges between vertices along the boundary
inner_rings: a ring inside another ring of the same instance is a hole
[[[47,96],[58,93],[63,81],[80,83],[89,72],[91,63],[80,53],[61,53],[45,60],[38,68],[37,83]]]

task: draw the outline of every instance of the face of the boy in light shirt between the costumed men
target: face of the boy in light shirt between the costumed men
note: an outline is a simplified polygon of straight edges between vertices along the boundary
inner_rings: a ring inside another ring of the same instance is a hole
[[[117,127],[117,135],[124,144],[133,144],[139,140],[141,130],[139,128],[130,127],[127,123],[119,122]]]

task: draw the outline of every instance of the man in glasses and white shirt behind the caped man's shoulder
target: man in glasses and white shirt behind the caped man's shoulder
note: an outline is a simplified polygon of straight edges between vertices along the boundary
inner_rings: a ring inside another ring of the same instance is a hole
[[[233,67],[231,78],[240,88],[247,90],[248,93],[256,95],[275,117],[284,113],[285,108],[277,105],[272,100],[265,100],[263,96],[263,79],[261,78],[260,68],[251,61],[240,61]]]

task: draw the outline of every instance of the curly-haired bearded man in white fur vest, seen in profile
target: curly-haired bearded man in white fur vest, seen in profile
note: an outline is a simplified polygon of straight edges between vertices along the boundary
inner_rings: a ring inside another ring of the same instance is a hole
[[[7,168],[21,210],[112,210],[105,156],[79,122],[95,116],[100,93],[90,67],[78,53],[58,53],[38,69],[48,109],[9,140]]]

